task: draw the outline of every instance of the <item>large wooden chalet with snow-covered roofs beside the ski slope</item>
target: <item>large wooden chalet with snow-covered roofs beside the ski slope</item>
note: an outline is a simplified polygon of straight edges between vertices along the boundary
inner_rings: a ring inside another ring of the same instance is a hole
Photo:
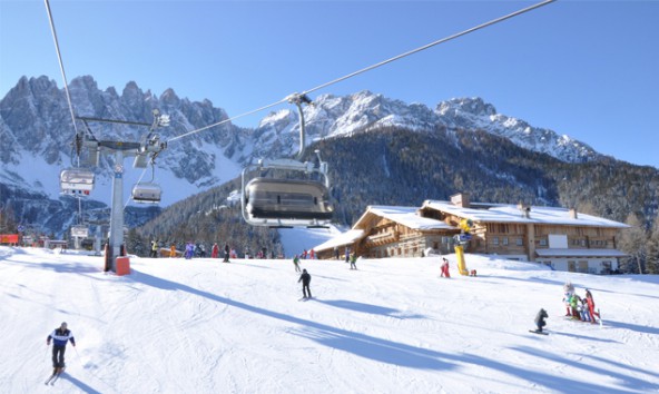
[[[618,269],[626,256],[617,249],[619,232],[629,227],[622,223],[558,207],[474,204],[465,194],[425,200],[421,208],[368,206],[350,232],[315,250],[318,258],[343,258],[345,248],[371,258],[450,254],[465,220],[466,253],[591,274]]]

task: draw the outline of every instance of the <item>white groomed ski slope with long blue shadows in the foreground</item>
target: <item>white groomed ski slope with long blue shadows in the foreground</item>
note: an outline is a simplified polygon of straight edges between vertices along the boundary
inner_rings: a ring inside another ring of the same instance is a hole
[[[314,243],[291,233],[296,245]],[[317,236],[317,235],[316,235]],[[291,240],[291,239],[289,239]],[[289,249],[288,249],[289,250]],[[657,393],[659,277],[466,255],[302,260],[102,257],[0,247],[2,393]],[[589,288],[603,325],[567,319]],[[530,333],[543,307],[549,335]],[[76,347],[55,385],[46,338]]]

